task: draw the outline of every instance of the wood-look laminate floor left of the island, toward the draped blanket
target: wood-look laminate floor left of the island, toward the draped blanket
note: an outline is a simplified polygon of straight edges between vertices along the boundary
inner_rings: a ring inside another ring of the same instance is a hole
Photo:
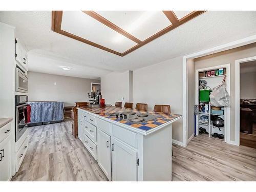
[[[107,181],[71,121],[29,127],[29,146],[12,181]]]

